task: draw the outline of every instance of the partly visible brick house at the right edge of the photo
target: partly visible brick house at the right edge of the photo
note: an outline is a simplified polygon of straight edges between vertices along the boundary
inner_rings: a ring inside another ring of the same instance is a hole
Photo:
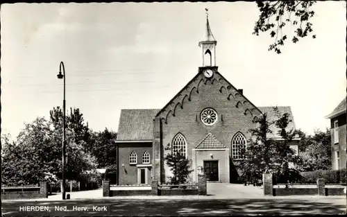
[[[325,118],[331,123],[332,169],[346,168],[346,98]]]

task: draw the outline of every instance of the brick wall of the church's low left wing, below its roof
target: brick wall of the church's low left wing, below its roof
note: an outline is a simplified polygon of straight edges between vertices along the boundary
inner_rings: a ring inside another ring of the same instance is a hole
[[[142,164],[142,155],[147,151],[152,163],[152,144],[151,143],[119,143],[118,144],[118,184],[137,184],[137,166],[129,164],[131,152],[137,155],[137,164]],[[124,164],[124,166],[122,166]],[[147,183],[151,184],[151,170],[147,172]]]

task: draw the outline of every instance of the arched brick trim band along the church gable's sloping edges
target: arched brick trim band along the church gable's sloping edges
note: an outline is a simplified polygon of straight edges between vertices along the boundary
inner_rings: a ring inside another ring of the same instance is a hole
[[[245,116],[257,116],[262,112],[251,103],[238,89],[231,85],[226,78],[221,76],[217,71],[218,67],[208,67],[214,70],[214,75],[211,78],[203,76],[203,69],[200,67],[199,73],[180,91],[167,105],[158,112],[157,117],[160,117],[162,123],[167,124],[170,116],[176,116],[177,110],[182,110],[183,107],[192,101],[192,97],[200,94],[203,85],[216,86],[216,92],[230,101],[230,106],[234,106],[242,110]]]

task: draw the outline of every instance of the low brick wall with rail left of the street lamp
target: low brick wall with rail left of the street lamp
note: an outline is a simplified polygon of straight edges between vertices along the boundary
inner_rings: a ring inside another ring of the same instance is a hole
[[[46,182],[40,182],[38,185],[26,186],[1,186],[1,199],[31,199],[48,198],[48,186]]]

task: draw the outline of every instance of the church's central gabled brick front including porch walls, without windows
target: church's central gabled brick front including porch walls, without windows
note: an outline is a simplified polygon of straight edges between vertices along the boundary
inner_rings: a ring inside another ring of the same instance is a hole
[[[212,133],[228,148],[228,156],[232,156],[232,137],[237,132],[242,132],[246,139],[251,137],[248,130],[255,126],[252,122],[254,115],[260,114],[260,112],[244,96],[239,94],[237,89],[229,85],[219,73],[215,73],[214,77],[210,79],[204,78],[203,73],[199,73],[189,86],[190,88],[180,92],[180,98],[175,98],[171,102],[170,106],[173,110],[167,108],[166,112],[162,112],[156,117],[155,123],[158,123],[158,119],[162,120],[162,144],[160,148],[164,149],[168,144],[171,146],[176,134],[181,133],[187,141],[188,159],[192,161],[192,150],[208,133]],[[211,126],[205,125],[201,121],[201,112],[207,107],[213,108],[218,115],[217,123]],[[253,114],[248,111],[253,112]],[[170,152],[171,150],[163,151],[164,155]],[[203,154],[196,152],[196,155]],[[219,155],[219,153],[215,153],[215,155]],[[202,158],[208,159],[209,156]],[[215,159],[222,162],[219,164],[219,173],[223,177],[221,181],[228,182],[229,164],[225,162],[226,156],[223,155],[221,158]],[[199,163],[201,164],[201,162],[196,164]],[[162,173],[165,175],[161,176],[167,178],[167,175],[170,175],[169,168],[165,162],[162,164]],[[194,174],[192,174],[191,179],[196,180]],[[161,181],[164,182],[165,180]]]

